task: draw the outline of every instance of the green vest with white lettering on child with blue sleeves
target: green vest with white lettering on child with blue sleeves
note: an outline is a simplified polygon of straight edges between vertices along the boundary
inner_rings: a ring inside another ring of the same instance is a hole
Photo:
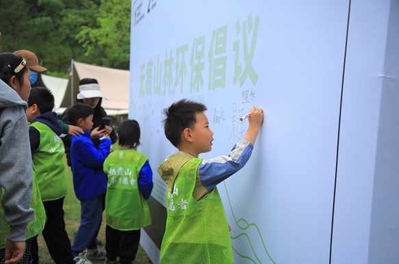
[[[116,230],[138,230],[151,224],[149,205],[138,187],[138,176],[147,158],[136,150],[117,150],[104,161],[108,175],[105,214]]]

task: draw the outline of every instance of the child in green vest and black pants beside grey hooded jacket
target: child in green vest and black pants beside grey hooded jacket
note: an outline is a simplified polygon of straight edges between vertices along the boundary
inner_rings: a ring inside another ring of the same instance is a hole
[[[67,193],[64,163],[64,144],[60,139],[62,125],[53,112],[54,96],[44,87],[31,90],[26,111],[30,122],[29,140],[32,160],[36,170],[38,185],[47,222],[42,232],[49,253],[55,263],[83,263],[86,259],[72,254],[70,240],[65,230],[64,198]],[[38,242],[31,242],[32,263],[38,263]]]

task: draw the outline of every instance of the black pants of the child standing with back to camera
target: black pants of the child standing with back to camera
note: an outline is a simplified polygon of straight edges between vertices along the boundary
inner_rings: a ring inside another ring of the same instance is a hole
[[[136,258],[139,243],[140,229],[120,231],[108,225],[105,228],[105,251],[112,262],[119,256],[120,264],[130,264]]]

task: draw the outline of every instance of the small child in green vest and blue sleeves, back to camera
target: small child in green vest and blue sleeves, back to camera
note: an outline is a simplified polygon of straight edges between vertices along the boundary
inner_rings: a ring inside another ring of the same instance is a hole
[[[136,120],[121,122],[116,135],[119,148],[104,161],[104,172],[108,176],[105,264],[130,264],[136,258],[140,228],[151,224],[146,200],[153,189],[153,171],[149,160],[137,151],[140,127]]]

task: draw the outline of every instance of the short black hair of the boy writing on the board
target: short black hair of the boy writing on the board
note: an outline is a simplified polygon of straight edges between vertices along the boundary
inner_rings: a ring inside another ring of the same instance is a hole
[[[164,123],[166,138],[177,147],[181,143],[181,133],[184,129],[193,129],[196,123],[196,114],[207,111],[203,103],[197,103],[188,99],[181,99],[164,109],[166,118]]]

